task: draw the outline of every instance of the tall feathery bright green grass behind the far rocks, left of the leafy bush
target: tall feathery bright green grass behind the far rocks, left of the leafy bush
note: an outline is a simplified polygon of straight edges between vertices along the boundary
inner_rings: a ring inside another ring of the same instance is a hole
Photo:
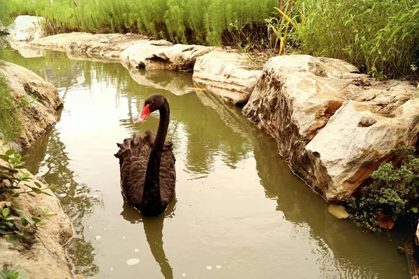
[[[78,6],[75,5],[78,3]],[[138,32],[175,43],[228,44],[230,23],[265,32],[277,0],[10,0],[11,15],[41,15],[50,33]]]

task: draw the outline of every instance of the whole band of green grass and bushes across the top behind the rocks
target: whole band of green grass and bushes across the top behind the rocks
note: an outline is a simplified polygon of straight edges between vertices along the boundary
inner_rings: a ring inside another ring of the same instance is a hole
[[[298,50],[343,59],[378,80],[419,77],[417,0],[10,0],[9,5],[13,16],[45,17],[50,34],[142,33],[173,43],[233,45],[267,58]]]

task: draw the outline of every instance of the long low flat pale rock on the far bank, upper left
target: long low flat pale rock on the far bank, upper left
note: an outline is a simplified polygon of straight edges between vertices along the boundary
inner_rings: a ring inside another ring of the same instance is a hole
[[[59,50],[69,54],[87,57],[102,57],[119,61],[119,54],[127,47],[148,40],[146,36],[132,34],[91,34],[73,32],[47,36],[34,40],[31,45],[44,47],[48,50]]]

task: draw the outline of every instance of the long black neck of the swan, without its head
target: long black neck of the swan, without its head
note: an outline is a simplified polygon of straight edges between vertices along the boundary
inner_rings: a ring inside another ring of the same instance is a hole
[[[163,152],[164,141],[168,133],[170,109],[168,101],[165,99],[162,107],[159,109],[160,121],[157,129],[156,140],[150,152],[147,172],[145,173],[144,190],[142,193],[142,203],[152,206],[152,204],[161,205],[160,195],[160,162]]]

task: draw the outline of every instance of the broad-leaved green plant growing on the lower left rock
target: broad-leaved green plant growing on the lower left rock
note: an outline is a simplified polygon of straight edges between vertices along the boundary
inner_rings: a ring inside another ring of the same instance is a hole
[[[41,211],[34,210],[29,216],[21,216],[23,211],[15,205],[15,201],[22,199],[22,195],[30,197],[34,197],[34,194],[50,195],[47,190],[57,188],[42,187],[36,181],[34,181],[35,186],[30,186],[27,183],[31,181],[30,174],[20,171],[26,168],[22,156],[13,149],[0,153],[0,159],[5,162],[0,164],[0,236],[6,236],[10,243],[16,241],[16,236],[29,239],[31,230],[47,223],[45,219],[54,214],[48,213],[48,209],[43,208]]]

